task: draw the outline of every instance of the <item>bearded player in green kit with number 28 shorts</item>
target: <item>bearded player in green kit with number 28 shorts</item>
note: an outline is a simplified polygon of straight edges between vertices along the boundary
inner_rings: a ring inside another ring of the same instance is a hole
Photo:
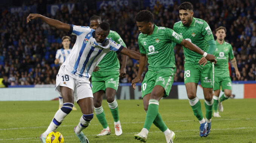
[[[183,36],[187,41],[196,44],[199,48],[213,54],[216,43],[210,26],[199,18],[193,18],[193,5],[189,2],[182,3],[179,7],[179,22],[175,23],[173,30]],[[184,48],[185,72],[184,83],[188,100],[200,123],[200,136],[206,137],[211,131],[211,118],[213,114],[213,65],[207,63],[202,66],[198,60],[205,59],[202,55]],[[200,81],[204,91],[206,118],[204,119],[201,103],[196,96],[197,84]]]

